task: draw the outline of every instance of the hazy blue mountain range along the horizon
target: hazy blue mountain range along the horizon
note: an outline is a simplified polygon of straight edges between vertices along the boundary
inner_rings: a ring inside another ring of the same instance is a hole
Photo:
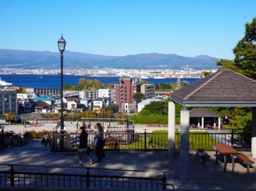
[[[80,52],[64,52],[64,68],[123,68],[123,69],[216,69],[220,59],[207,55],[194,58],[176,54],[137,54],[103,56]],[[60,52],[0,49],[0,68],[60,68]]]

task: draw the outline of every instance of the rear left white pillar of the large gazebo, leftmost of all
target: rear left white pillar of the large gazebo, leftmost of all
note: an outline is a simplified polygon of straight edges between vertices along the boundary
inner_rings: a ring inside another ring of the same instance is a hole
[[[175,154],[175,104],[168,103],[168,155],[174,157]]]

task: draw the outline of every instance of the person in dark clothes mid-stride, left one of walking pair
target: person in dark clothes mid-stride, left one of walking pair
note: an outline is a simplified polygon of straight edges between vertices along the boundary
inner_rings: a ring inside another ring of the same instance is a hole
[[[79,149],[78,149],[78,159],[77,164],[82,164],[82,156],[84,155],[90,161],[90,165],[93,164],[93,160],[90,159],[88,151],[88,133],[85,131],[85,127],[80,127],[81,134],[79,136]]]

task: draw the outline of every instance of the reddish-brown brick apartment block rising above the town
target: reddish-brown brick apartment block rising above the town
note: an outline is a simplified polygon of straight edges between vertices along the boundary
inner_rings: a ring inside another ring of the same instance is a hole
[[[132,96],[140,92],[140,83],[132,82],[131,78],[120,78],[119,84],[114,84],[114,104],[134,102]]]

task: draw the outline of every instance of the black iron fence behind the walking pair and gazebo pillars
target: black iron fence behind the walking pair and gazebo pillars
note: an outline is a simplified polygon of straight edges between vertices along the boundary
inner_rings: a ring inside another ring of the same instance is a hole
[[[64,141],[64,150],[76,150],[80,132],[66,134],[53,133],[53,151],[61,151],[60,141]],[[153,131],[136,132],[134,129],[108,129],[104,132],[106,150],[156,151],[168,149],[168,132]],[[94,132],[88,130],[88,146],[93,149]],[[180,149],[180,132],[175,133],[175,149]],[[230,145],[238,151],[250,151],[251,131],[229,133],[190,131],[190,150],[213,150],[211,145]]]

